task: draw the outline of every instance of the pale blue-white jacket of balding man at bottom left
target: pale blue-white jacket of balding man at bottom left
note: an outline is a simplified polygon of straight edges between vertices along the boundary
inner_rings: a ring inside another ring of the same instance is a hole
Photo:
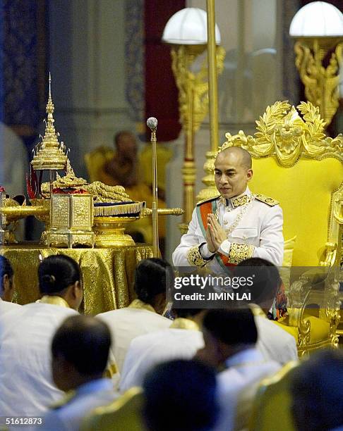
[[[37,426],[37,431],[78,431],[83,418],[100,406],[107,406],[119,396],[114,391],[112,381],[97,379],[85,383],[65,404],[52,408],[43,416],[43,424]]]

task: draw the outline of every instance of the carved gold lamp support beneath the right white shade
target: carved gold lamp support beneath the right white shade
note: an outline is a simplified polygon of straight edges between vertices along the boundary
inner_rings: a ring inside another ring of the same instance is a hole
[[[342,38],[304,37],[294,44],[296,68],[308,101],[320,108],[326,125],[331,123],[339,106],[339,65],[343,60]],[[330,55],[325,67],[323,61]]]

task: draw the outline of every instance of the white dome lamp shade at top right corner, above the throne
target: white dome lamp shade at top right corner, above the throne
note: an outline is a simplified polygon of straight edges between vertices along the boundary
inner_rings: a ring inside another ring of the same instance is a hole
[[[313,1],[303,6],[291,20],[292,37],[343,36],[343,14],[332,4]]]

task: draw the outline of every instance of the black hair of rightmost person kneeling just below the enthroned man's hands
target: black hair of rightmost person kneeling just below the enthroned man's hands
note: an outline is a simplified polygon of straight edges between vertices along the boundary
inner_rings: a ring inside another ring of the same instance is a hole
[[[253,276],[251,301],[257,304],[259,301],[269,300],[271,306],[282,284],[277,267],[263,258],[248,258],[241,261],[234,269],[234,275]]]

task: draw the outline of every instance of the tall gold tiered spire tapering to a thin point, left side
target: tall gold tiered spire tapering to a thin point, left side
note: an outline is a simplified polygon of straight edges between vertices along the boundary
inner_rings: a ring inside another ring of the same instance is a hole
[[[42,142],[35,147],[35,156],[31,164],[35,170],[63,170],[66,168],[66,146],[59,143],[59,133],[54,126],[54,104],[52,102],[52,77],[49,73],[49,97],[47,101],[47,121],[45,121],[45,133]]]

